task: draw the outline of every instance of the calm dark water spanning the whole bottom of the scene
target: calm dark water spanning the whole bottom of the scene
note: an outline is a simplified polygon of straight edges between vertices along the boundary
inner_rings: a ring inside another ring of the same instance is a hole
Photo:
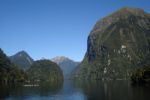
[[[150,100],[150,87],[128,81],[70,80],[39,87],[0,85],[0,100]]]

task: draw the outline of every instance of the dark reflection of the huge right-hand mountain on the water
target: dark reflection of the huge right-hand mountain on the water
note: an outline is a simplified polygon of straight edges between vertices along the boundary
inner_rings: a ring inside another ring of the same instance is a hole
[[[132,86],[128,81],[76,81],[89,100],[148,100],[150,87]]]

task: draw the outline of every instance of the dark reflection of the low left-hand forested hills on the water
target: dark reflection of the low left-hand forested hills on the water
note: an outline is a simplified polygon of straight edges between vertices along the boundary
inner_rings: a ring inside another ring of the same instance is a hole
[[[57,94],[63,87],[62,83],[43,83],[39,87],[24,87],[23,84],[0,85],[0,98],[13,100],[36,100],[34,97],[47,97]]]

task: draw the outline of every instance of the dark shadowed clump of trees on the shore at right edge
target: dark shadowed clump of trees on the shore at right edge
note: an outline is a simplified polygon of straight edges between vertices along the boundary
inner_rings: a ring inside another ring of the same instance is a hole
[[[150,66],[144,66],[132,72],[133,83],[150,83]]]

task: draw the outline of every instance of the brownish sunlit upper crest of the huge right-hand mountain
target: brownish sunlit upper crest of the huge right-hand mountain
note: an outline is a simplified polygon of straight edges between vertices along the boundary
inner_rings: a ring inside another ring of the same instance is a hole
[[[91,34],[101,33],[117,22],[123,23],[124,21],[129,20],[129,22],[131,23],[133,22],[133,20],[145,18],[150,18],[150,14],[144,12],[143,9],[123,7],[115,11],[114,13],[104,17],[103,19],[100,19],[94,26]]]

